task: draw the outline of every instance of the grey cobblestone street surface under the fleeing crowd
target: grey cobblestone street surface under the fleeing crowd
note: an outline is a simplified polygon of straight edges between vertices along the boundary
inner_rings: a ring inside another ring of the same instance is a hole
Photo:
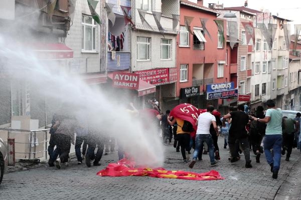
[[[228,161],[228,149],[223,148],[223,137],[219,137],[221,160],[218,166],[211,167],[209,155],[197,161],[193,169],[183,163],[180,152],[172,144],[165,146],[165,168],[205,172],[215,169],[224,180],[194,181],[184,179],[153,178],[147,176],[101,177],[96,173],[109,162],[117,160],[117,152],[103,155],[101,166],[78,165],[75,158],[69,167],[56,169],[40,163],[27,166],[16,172],[6,173],[0,186],[0,199],[289,199],[291,191],[283,183],[290,183],[290,171],[300,176],[297,164],[300,152],[293,149],[290,161],[281,158],[278,179],[273,179],[264,154],[261,163],[255,162],[251,153],[253,168],[245,168],[243,154],[235,163]],[[33,168],[36,167],[36,168]],[[300,168],[300,167],[299,167]],[[295,176],[294,176],[295,177]],[[295,182],[297,185],[297,182]],[[281,186],[282,185],[282,186]],[[280,188],[280,189],[279,189]],[[300,187],[298,187],[300,188]],[[300,189],[299,189],[300,190]],[[282,196],[280,196],[282,195]],[[283,197],[283,198],[281,198]],[[298,199],[295,197],[294,199]],[[301,198],[299,198],[301,199]]]

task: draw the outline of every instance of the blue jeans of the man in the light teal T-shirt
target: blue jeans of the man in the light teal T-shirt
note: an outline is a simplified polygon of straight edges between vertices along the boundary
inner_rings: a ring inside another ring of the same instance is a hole
[[[268,134],[263,140],[263,149],[268,164],[273,164],[273,171],[280,168],[282,134]],[[271,153],[273,149],[273,155]]]

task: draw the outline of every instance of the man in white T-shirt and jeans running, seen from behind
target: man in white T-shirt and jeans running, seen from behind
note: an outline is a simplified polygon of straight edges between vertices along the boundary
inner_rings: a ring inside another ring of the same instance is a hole
[[[196,125],[198,126],[197,134],[196,134],[196,147],[193,152],[193,160],[189,164],[190,168],[192,168],[197,162],[197,157],[199,155],[199,151],[204,141],[208,145],[211,166],[217,165],[217,160],[215,160],[214,158],[213,140],[209,131],[210,125],[212,123],[216,133],[218,133],[215,116],[211,114],[213,110],[214,110],[214,106],[209,105],[207,107],[207,112],[200,114],[198,120],[196,121]]]

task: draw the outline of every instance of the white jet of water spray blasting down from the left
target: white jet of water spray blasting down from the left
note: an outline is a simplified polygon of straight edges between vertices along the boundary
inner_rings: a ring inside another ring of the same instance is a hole
[[[137,163],[163,165],[164,150],[158,136],[158,124],[150,125],[152,120],[142,121],[139,116],[128,113],[127,104],[123,102],[131,102],[130,97],[120,99],[114,92],[87,85],[78,74],[70,74],[51,60],[39,60],[24,43],[0,34],[0,57],[5,76],[8,75],[12,82],[30,85],[35,98],[46,99],[54,105],[56,110],[51,110],[52,113],[74,115],[97,134],[115,137]]]

